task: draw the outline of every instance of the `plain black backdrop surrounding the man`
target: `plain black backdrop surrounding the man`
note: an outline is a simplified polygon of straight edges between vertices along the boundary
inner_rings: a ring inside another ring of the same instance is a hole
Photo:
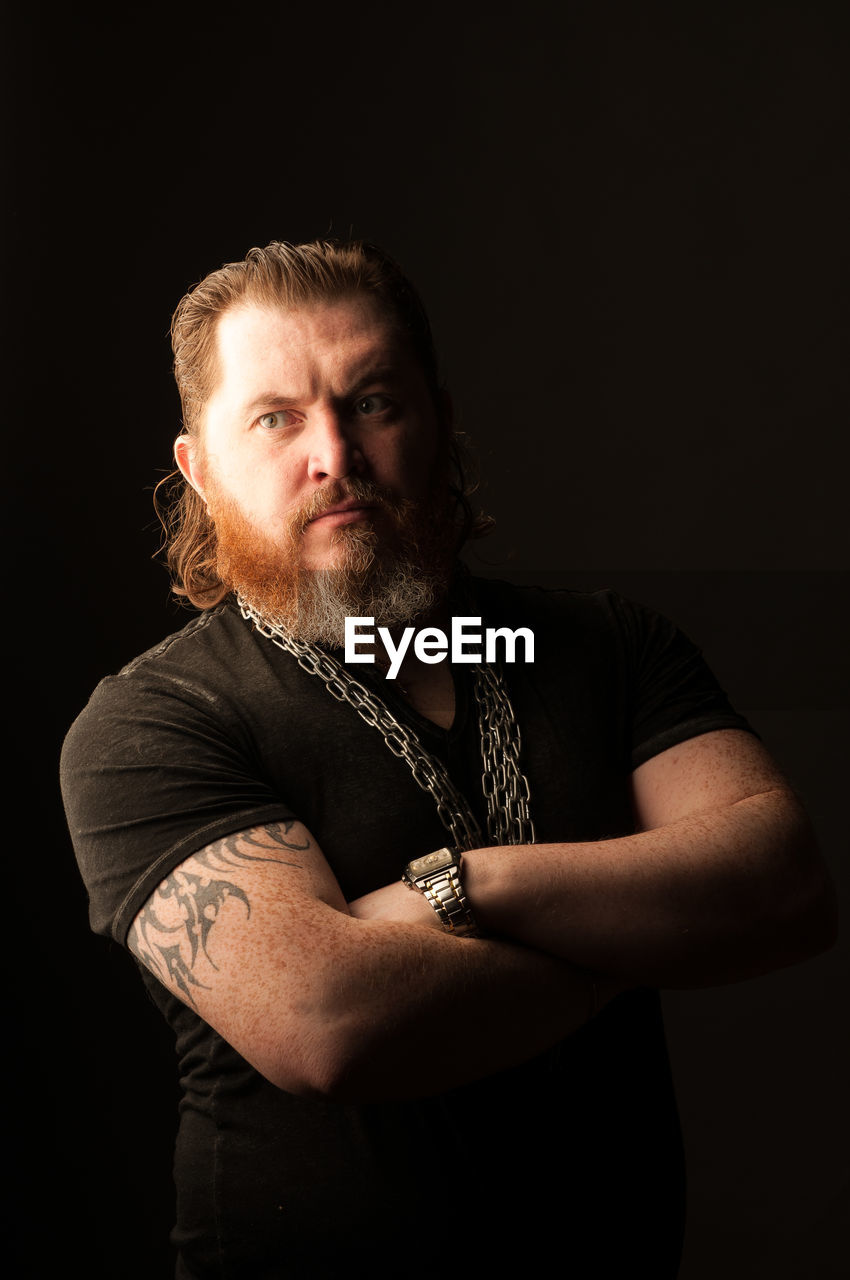
[[[17,1275],[169,1275],[169,1037],[87,932],[56,762],[100,676],[186,617],[151,559],[179,429],[168,325],[251,244],[357,234],[405,264],[498,518],[476,567],[675,617],[804,795],[844,891],[842,8],[6,17]],[[682,1280],[844,1275],[845,973],[837,947],[666,997]],[[485,1229],[465,1224],[472,1247]]]

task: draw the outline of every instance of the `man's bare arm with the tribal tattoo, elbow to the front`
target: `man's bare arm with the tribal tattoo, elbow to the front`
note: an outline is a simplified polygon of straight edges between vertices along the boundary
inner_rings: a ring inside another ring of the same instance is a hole
[[[513,943],[448,937],[416,897],[399,922],[356,919],[307,829],[275,823],[188,858],[128,942],[296,1093],[438,1092],[520,1062],[586,1020],[586,975]]]

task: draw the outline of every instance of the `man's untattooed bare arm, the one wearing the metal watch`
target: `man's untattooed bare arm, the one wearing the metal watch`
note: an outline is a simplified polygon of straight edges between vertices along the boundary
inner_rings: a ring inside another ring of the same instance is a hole
[[[831,887],[801,805],[757,739],[707,733],[632,776],[638,833],[472,850],[479,923],[623,982],[709,986],[828,946]],[[402,909],[403,887],[352,904]]]

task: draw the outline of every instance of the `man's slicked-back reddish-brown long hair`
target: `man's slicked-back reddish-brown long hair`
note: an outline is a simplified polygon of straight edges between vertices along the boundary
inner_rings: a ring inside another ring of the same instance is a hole
[[[431,326],[422,302],[393,259],[365,241],[273,241],[252,248],[241,262],[211,271],[183,297],[172,320],[174,378],[183,411],[183,431],[196,436],[204,407],[218,378],[215,329],[219,317],[241,302],[293,308],[315,302],[366,296],[393,315],[413,355],[442,419],[443,393]],[[489,532],[494,521],[475,513],[470,495],[471,454],[463,436],[448,434],[449,489],[456,504],[457,545]],[[204,499],[179,471],[156,486],[154,503],[164,530],[172,589],[200,609],[218,604],[227,588],[216,572],[215,525]]]

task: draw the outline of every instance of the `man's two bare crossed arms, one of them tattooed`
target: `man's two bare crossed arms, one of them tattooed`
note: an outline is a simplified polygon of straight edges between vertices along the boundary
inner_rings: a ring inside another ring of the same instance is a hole
[[[705,733],[632,776],[636,835],[465,855],[484,938],[393,883],[346,902],[297,822],[180,864],[134,954],[280,1088],[342,1101],[437,1092],[531,1057],[626,987],[704,986],[830,946],[805,814],[749,733]],[[406,850],[399,850],[399,873]]]

